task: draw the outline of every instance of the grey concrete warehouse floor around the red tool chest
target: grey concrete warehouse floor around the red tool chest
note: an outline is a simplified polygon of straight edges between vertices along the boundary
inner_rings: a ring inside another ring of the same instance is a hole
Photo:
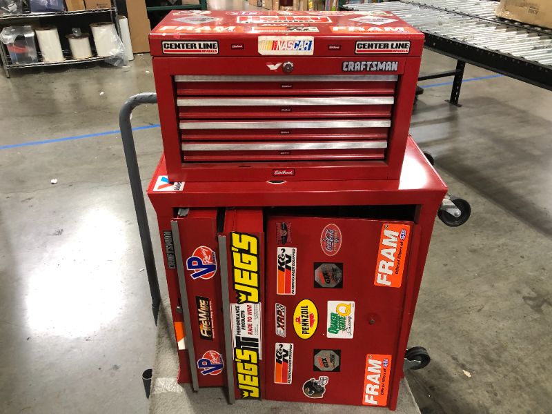
[[[424,53],[424,73],[453,66]],[[411,132],[473,217],[435,226],[411,334],[433,361],[408,379],[424,414],[549,413],[552,95],[495,77],[464,83],[456,108],[444,101],[450,86],[431,86],[442,81],[425,82]],[[109,131],[126,97],[153,89],[148,55],[130,68],[0,77],[2,413],[148,411],[140,375],[155,326]],[[145,186],[161,153],[157,108],[133,122],[151,127],[135,132]],[[37,143],[49,139],[61,140]]]

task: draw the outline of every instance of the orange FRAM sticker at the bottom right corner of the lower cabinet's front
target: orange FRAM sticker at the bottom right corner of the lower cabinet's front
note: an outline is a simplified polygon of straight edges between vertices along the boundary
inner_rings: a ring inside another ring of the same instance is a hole
[[[366,355],[362,405],[387,405],[390,375],[391,355]]]

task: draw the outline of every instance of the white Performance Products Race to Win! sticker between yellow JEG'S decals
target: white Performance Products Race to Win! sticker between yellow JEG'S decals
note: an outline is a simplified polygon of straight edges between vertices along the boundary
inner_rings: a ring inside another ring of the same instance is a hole
[[[262,359],[261,304],[230,304],[234,348],[253,348]]]

